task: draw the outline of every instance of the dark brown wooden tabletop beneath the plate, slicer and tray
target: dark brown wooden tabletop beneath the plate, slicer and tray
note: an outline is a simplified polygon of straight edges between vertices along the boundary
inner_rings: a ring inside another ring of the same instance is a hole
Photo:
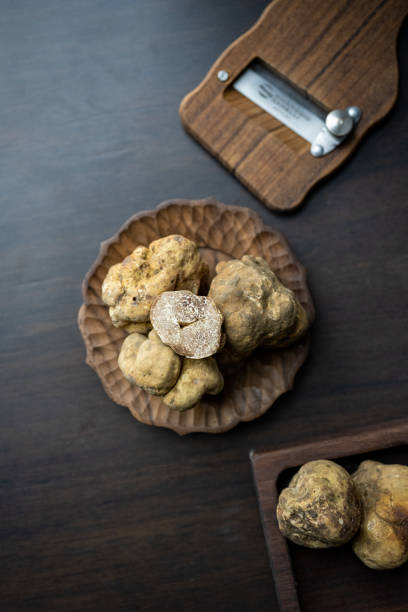
[[[407,27],[393,113],[279,216],[178,118],[265,6],[0,3],[2,610],[276,610],[249,450],[406,414]],[[208,195],[285,233],[317,319],[294,391],[269,413],[179,438],[105,395],[76,315],[101,240],[138,210]]]

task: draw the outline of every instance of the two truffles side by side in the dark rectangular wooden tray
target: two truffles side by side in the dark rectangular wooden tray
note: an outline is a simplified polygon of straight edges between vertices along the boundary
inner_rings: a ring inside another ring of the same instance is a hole
[[[279,529],[308,548],[352,547],[372,569],[408,560],[408,466],[363,461],[351,476],[333,461],[310,461],[279,496]]]

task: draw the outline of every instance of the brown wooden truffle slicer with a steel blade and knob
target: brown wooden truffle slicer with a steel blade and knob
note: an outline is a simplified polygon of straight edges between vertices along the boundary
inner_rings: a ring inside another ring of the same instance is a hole
[[[181,103],[266,206],[298,206],[392,108],[407,0],[274,0]]]

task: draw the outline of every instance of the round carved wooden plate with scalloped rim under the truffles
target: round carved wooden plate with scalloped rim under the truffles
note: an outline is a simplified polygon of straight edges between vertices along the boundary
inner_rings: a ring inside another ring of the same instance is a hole
[[[84,303],[78,325],[86,346],[86,362],[98,374],[106,393],[117,404],[148,425],[168,427],[179,434],[221,433],[240,421],[264,414],[279,395],[292,388],[304,362],[309,342],[293,347],[257,350],[245,362],[239,376],[225,375],[225,387],[217,396],[204,396],[191,410],[171,410],[158,397],[132,386],[118,367],[118,355],[126,332],[113,327],[101,299],[102,282],[110,268],[136,246],[169,234],[182,234],[199,246],[210,266],[210,278],[221,260],[245,254],[263,257],[284,285],[292,289],[314,319],[313,302],[304,267],[296,261],[282,234],[263,224],[248,208],[225,206],[213,199],[171,200],[156,210],[131,217],[119,232],[103,242],[94,265],[86,275]]]

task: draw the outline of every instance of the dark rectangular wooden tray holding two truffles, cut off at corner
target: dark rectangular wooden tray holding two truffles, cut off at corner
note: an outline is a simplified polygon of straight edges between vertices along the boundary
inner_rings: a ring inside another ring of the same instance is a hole
[[[306,461],[332,459],[349,472],[361,461],[408,463],[408,421],[339,438],[250,454],[259,509],[281,610],[405,612],[408,564],[388,571],[367,568],[351,545],[327,550],[296,546],[276,520],[280,491]]]

